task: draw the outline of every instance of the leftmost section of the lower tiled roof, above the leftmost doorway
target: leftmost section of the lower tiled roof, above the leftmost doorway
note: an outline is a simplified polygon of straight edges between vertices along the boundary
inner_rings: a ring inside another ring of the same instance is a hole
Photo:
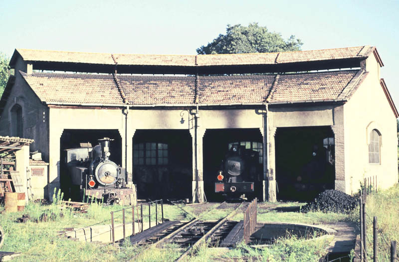
[[[123,103],[111,75],[19,72],[40,100],[47,103]]]

